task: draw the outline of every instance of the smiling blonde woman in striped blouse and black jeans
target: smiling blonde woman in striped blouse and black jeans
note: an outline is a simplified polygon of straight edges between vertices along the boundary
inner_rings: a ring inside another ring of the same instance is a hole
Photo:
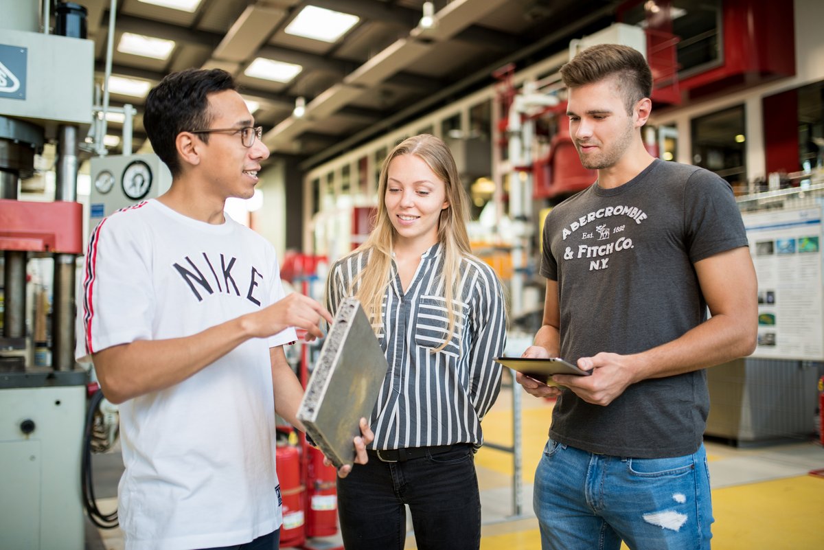
[[[401,550],[404,505],[417,547],[480,547],[474,454],[480,421],[500,389],[503,292],[475,258],[467,198],[438,137],[410,137],[383,163],[377,223],[330,270],[334,312],[357,296],[389,364],[370,422],[368,464],[338,480],[347,550]]]

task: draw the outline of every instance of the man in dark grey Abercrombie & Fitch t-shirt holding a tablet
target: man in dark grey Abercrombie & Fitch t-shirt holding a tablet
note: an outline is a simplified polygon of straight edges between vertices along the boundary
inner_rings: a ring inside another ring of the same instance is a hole
[[[524,357],[592,375],[517,375],[558,398],[535,476],[541,545],[709,548],[703,369],[756,345],[741,215],[723,179],[645,150],[652,76],[636,50],[593,46],[561,75],[570,133],[598,179],[546,219],[543,326]]]

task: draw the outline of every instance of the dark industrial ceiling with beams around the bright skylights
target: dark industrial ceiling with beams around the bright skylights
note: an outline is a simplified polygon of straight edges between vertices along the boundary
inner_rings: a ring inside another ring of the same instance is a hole
[[[110,0],[79,0],[95,41],[96,79],[105,76]],[[274,155],[319,164],[430,110],[494,82],[507,63],[522,68],[564,49],[571,38],[614,20],[606,0],[439,0],[433,26],[421,24],[423,0],[201,0],[194,12],[143,0],[115,7],[111,74],[149,82],[184,68],[223,68],[258,105]],[[427,2],[428,3],[428,2]],[[288,34],[307,6],[357,16],[333,42]],[[165,59],[119,51],[124,33],[174,41]],[[245,74],[256,58],[301,67],[288,82]],[[305,113],[294,114],[303,98]],[[137,108],[134,145],[145,139],[143,96],[110,93],[110,105]],[[110,123],[110,133],[119,124]],[[115,149],[116,151],[116,149]]]

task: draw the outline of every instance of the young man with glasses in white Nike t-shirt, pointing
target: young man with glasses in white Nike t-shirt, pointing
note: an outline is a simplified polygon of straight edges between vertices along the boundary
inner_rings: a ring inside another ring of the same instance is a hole
[[[274,415],[301,427],[283,344],[293,327],[321,336],[332,318],[284,296],[272,245],[223,213],[227,198],[252,196],[269,156],[232,77],[171,74],[149,93],[143,123],[171,188],[91,235],[78,335],[78,356],[91,355],[120,403],[126,548],[272,550],[282,522]]]

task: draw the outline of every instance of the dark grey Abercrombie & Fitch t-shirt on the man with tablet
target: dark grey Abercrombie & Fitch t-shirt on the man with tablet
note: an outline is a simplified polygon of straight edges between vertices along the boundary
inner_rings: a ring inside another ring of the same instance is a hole
[[[747,246],[732,188],[708,170],[653,161],[616,189],[597,183],[546,218],[541,274],[558,282],[560,355],[630,354],[707,319],[693,263]],[[734,281],[730,281],[734,285]],[[704,434],[705,371],[643,380],[606,407],[569,389],[550,437],[593,453],[694,453]]]

